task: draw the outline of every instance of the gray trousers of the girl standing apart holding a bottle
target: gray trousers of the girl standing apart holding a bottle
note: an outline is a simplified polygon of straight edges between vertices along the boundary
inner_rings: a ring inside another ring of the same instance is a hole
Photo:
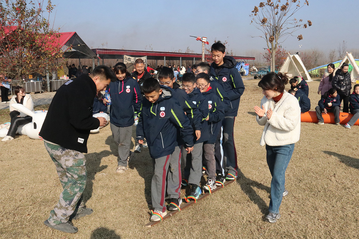
[[[132,125],[127,127],[117,127],[110,123],[112,137],[118,145],[118,165],[127,166],[127,157],[130,154]]]

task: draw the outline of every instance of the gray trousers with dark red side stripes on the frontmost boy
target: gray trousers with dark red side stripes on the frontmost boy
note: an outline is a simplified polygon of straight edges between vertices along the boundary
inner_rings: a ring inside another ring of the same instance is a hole
[[[181,196],[181,149],[176,146],[170,155],[152,159],[153,177],[151,182],[151,198],[154,210],[166,211],[165,194],[170,198]]]

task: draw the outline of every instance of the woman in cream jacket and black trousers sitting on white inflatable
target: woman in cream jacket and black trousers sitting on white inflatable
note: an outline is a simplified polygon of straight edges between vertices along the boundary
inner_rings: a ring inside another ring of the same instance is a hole
[[[22,104],[27,107],[29,110],[34,112],[34,102],[32,101],[31,95],[25,94],[25,89],[21,86],[14,87],[15,95],[10,100],[10,118],[11,124],[8,131],[8,134],[1,141],[9,141],[15,138],[16,131],[18,127],[23,124],[30,123],[32,117],[20,113],[12,107],[13,104]]]

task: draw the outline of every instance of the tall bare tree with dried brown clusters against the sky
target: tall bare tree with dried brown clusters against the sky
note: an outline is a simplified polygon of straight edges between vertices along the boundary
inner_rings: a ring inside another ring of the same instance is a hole
[[[305,0],[303,5],[298,0],[286,0],[284,3],[280,0],[267,0],[266,3],[261,2],[258,5],[259,8],[254,7],[251,24],[255,23],[255,27],[263,34],[257,37],[266,40],[272,57],[271,69],[275,69],[275,52],[280,43],[283,43],[289,36],[294,36],[295,31],[312,25],[309,20],[308,23],[303,23],[302,19],[294,18],[295,13],[305,5],[309,6],[308,0]],[[297,38],[302,40],[302,34]]]

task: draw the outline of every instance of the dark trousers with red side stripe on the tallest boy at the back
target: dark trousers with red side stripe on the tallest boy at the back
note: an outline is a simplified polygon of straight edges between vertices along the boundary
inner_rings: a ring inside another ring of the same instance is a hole
[[[223,153],[225,173],[237,177],[237,152],[234,146],[233,128],[235,116],[225,116],[223,120]]]

